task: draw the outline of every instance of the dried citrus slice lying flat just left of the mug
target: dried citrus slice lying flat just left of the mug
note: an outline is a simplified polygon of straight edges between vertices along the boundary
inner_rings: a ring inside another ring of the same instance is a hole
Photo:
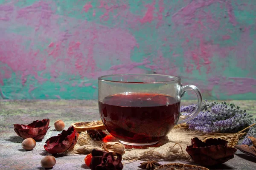
[[[106,130],[101,120],[93,122],[76,122],[73,123],[72,126],[74,126],[78,132],[85,130]]]

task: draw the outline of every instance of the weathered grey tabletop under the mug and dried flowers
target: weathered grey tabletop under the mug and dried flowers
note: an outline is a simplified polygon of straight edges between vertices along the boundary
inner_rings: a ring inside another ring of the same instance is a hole
[[[227,101],[246,109],[247,113],[256,116],[256,101]],[[182,101],[181,105],[196,103],[192,100]],[[31,151],[23,150],[22,138],[13,130],[13,124],[29,124],[35,120],[50,119],[51,128],[41,142]],[[73,122],[90,122],[99,120],[98,102],[95,100],[0,100],[0,170],[43,170],[41,159],[47,155],[44,142],[59,132],[54,129],[54,122],[62,119],[67,129]],[[240,141],[241,142],[241,141]],[[57,156],[54,170],[89,169],[84,164],[85,155]],[[137,170],[142,161],[125,164],[123,170]],[[172,162],[182,162],[174,160]],[[171,162],[160,162],[161,164]],[[211,169],[255,170],[256,159],[236,152],[234,159]]]

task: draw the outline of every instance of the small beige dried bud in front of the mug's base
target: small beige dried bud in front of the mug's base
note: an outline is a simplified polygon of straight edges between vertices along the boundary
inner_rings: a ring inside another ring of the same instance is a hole
[[[113,152],[114,155],[116,155],[116,153],[122,155],[125,153],[125,145],[119,142],[107,142],[102,144],[102,150]]]

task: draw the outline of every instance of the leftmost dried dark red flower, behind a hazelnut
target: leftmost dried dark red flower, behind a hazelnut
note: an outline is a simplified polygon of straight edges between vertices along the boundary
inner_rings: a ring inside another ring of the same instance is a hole
[[[50,128],[48,127],[49,123],[49,119],[43,119],[36,120],[29,125],[14,124],[14,131],[23,139],[33,138],[35,141],[40,141],[44,138],[47,130]]]

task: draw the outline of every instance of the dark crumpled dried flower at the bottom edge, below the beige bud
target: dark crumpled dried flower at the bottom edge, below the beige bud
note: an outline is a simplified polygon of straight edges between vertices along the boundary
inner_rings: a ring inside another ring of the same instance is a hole
[[[103,152],[101,150],[93,150],[90,162],[91,170],[122,170],[122,156],[116,154],[115,159],[112,152]]]

